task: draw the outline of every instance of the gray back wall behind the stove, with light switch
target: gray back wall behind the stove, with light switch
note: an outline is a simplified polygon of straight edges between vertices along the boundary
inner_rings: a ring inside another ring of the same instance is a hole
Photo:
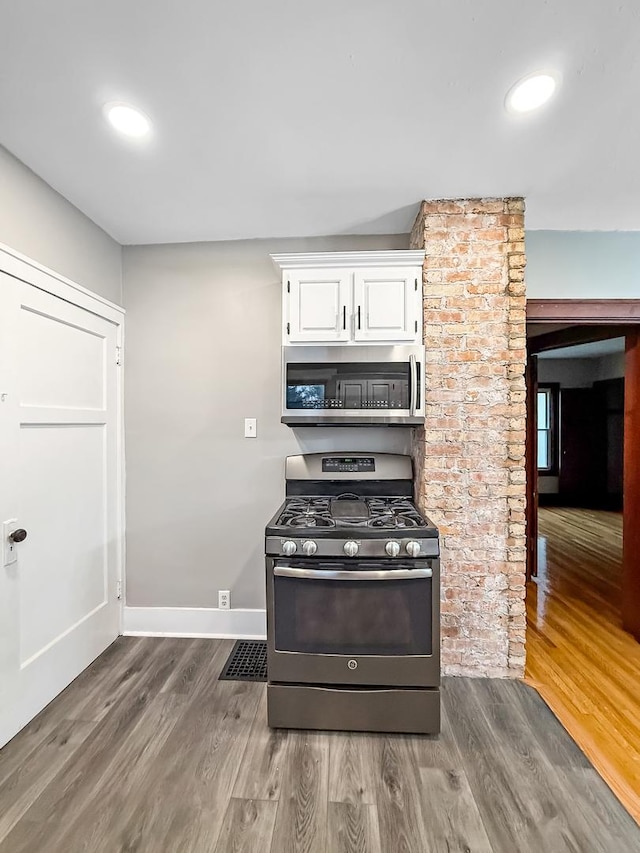
[[[284,457],[410,452],[408,431],[280,423],[273,252],[405,249],[405,235],[123,249],[127,589],[135,606],[264,606],[264,527]],[[243,438],[257,417],[257,439]]]

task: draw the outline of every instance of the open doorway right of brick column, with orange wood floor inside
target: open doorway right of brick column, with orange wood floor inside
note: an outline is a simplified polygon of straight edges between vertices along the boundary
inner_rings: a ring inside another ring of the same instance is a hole
[[[639,327],[553,306],[528,311],[526,680],[640,820]]]

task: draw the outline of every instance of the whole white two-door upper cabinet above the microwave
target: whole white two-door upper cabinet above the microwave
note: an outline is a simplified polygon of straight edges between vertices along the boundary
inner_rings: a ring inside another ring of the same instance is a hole
[[[283,344],[422,343],[424,252],[272,255]]]

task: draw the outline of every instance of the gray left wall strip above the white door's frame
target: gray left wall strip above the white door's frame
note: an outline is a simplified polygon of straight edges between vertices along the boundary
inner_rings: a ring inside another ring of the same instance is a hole
[[[122,304],[120,244],[2,146],[0,243]]]

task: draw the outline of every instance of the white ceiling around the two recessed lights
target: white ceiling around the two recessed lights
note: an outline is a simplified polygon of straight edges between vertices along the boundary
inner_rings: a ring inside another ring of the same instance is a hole
[[[640,229],[637,0],[3,0],[0,143],[123,243],[407,231],[524,195]],[[539,68],[537,114],[503,107]],[[101,114],[148,113],[150,143]]]

